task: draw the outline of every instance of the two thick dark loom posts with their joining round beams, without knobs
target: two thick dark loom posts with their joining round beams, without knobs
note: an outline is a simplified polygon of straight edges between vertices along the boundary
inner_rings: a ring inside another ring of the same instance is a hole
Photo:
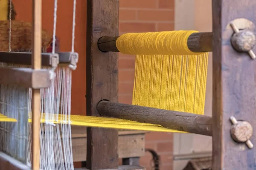
[[[230,23],[244,18],[256,24],[255,10],[255,0],[212,0],[212,33],[194,34],[188,40],[190,50],[213,53],[212,118],[186,113],[177,116],[172,111],[166,111],[170,116],[166,116],[168,121],[161,124],[160,116],[153,120],[143,114],[145,109],[151,112],[144,113],[151,115],[162,113],[160,110],[116,103],[118,50],[115,41],[119,32],[119,0],[87,0],[87,115],[112,116],[148,123],[158,120],[157,123],[163,126],[169,123],[173,129],[207,133],[213,141],[213,170],[256,170],[256,147],[249,149],[245,143],[235,142],[230,135],[231,116],[248,121],[256,128],[256,61],[247,53],[235,50],[230,43],[234,33]],[[243,21],[236,23],[242,24]],[[252,50],[256,51],[256,47]],[[110,102],[100,102],[104,99]],[[135,111],[140,116],[132,115]],[[190,121],[186,121],[187,116]],[[250,141],[256,143],[255,133]],[[87,169],[117,169],[116,146],[116,130],[88,127]],[[126,167],[125,170],[130,169],[136,168]]]

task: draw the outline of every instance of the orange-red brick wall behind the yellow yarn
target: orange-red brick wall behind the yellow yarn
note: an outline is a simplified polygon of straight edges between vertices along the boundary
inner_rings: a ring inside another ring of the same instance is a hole
[[[127,32],[172,31],[174,29],[174,0],[120,0],[119,34]],[[119,102],[131,104],[135,57],[119,54]],[[161,170],[172,170],[172,133],[146,134],[146,148],[161,156]],[[150,153],[140,165],[151,170]]]

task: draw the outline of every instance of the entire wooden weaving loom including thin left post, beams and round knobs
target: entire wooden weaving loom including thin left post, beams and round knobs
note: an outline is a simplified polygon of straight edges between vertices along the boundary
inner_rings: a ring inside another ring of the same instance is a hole
[[[41,18],[41,1],[34,0],[33,3],[36,9],[33,23],[37,23]],[[173,130],[212,136],[213,170],[256,170],[256,147],[253,147],[256,143],[253,132],[256,128],[255,11],[255,0],[213,0],[212,33],[194,33],[187,41],[191,51],[213,53],[213,108],[212,117],[209,117],[118,103],[119,51],[116,39],[119,0],[87,0],[87,115],[158,124]],[[40,39],[41,23],[33,26],[34,37],[39,35]],[[33,69],[25,72],[0,68],[4,73],[0,75],[1,84],[34,88],[34,96],[38,95],[38,88],[47,87],[45,82],[39,84],[40,81],[24,78],[29,72],[30,76],[49,79],[47,71],[34,70],[41,69],[41,43],[38,39],[33,43]],[[37,59],[39,62],[35,65]],[[17,73],[19,75],[15,77]],[[7,74],[14,76],[8,79]],[[39,107],[33,107],[34,116],[39,112]],[[36,132],[39,133],[39,118],[35,116],[32,121],[32,169],[38,170],[39,136]],[[117,146],[117,130],[87,127],[87,169],[144,170],[136,165],[118,167]],[[1,156],[0,164],[4,169],[28,168],[8,156]]]

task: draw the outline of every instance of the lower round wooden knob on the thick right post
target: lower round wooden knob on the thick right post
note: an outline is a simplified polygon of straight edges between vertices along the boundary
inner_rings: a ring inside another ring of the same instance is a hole
[[[253,134],[253,127],[249,122],[238,121],[231,127],[231,136],[236,142],[246,142]]]

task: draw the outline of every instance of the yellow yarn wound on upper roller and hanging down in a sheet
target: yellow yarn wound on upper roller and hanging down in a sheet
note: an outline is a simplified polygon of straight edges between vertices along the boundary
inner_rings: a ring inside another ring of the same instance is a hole
[[[195,32],[128,33],[116,40],[121,53],[136,54],[133,105],[204,114],[208,53],[189,50]]]

